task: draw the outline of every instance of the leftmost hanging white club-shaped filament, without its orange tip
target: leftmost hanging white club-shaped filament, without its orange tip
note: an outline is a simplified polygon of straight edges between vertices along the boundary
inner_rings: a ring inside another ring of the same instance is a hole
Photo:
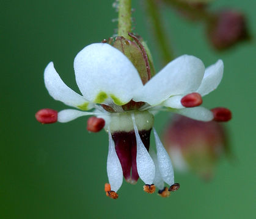
[[[107,161],[107,172],[109,184],[111,190],[117,192],[123,183],[123,170],[120,164],[119,158],[115,151],[115,143],[112,139],[110,131],[109,133],[109,151],[108,151],[108,161]]]

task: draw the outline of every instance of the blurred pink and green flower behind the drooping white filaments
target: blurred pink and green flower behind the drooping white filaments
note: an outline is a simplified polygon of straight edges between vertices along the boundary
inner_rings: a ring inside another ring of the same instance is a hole
[[[174,167],[211,179],[216,163],[227,151],[224,127],[219,122],[202,122],[175,115],[164,133],[164,146]]]

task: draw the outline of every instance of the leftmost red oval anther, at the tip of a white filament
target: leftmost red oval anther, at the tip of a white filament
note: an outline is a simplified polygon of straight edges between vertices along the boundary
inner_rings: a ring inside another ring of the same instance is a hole
[[[35,119],[42,124],[57,122],[58,112],[54,109],[40,109],[35,114]]]

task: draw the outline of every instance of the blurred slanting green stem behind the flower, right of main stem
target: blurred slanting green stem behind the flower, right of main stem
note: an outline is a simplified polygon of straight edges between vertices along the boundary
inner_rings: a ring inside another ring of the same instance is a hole
[[[147,13],[152,19],[151,26],[155,32],[156,40],[162,52],[164,64],[169,63],[169,61],[175,58],[172,47],[170,46],[169,39],[166,37],[166,30],[163,26],[163,21],[161,21],[161,14],[159,13],[159,7],[155,0],[147,0]]]

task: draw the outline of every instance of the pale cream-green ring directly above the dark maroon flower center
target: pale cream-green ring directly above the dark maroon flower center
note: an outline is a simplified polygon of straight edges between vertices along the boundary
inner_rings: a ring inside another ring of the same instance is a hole
[[[154,117],[153,114],[147,110],[144,111],[130,111],[123,113],[111,113],[111,122],[109,125],[111,133],[117,131],[133,131],[133,120],[131,113],[134,113],[137,129],[150,130],[153,127]]]

